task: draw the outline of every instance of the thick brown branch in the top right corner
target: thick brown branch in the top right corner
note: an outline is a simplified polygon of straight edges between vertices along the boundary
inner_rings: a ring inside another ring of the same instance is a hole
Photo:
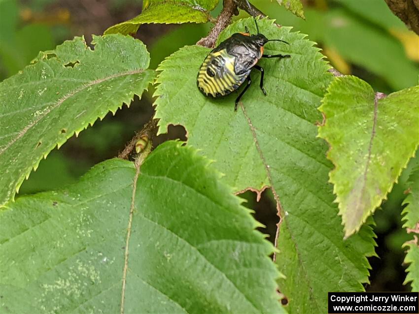
[[[393,13],[419,35],[419,0],[385,0]]]

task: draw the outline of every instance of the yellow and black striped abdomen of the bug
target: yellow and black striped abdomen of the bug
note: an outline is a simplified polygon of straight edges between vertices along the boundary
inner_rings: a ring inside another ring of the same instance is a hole
[[[236,57],[231,56],[225,49],[211,52],[201,65],[198,72],[197,85],[206,96],[220,97],[237,90],[244,82],[245,72],[237,75],[234,71]]]

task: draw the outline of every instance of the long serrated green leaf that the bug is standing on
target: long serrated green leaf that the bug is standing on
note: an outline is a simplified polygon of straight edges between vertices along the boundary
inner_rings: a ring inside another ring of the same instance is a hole
[[[252,19],[240,20],[218,42],[244,26],[255,31]],[[260,20],[259,27],[268,38],[289,42],[270,42],[265,53],[291,55],[258,63],[265,69],[267,96],[254,71],[237,112],[234,102],[241,89],[222,98],[205,97],[196,77],[210,49],[182,48],[158,68],[159,133],[170,124],[184,126],[188,145],[216,160],[223,181],[236,191],[273,189],[282,216],[277,263],[286,276],[279,280],[279,290],[289,300],[290,313],[324,313],[327,291],[363,290],[360,283],[368,281],[369,267],[365,255],[374,254],[373,233],[366,226],[343,240],[327,182],[332,165],[325,157],[325,142],[316,138],[315,123],[321,121],[317,106],[332,79],[328,65],[304,34],[268,19]]]

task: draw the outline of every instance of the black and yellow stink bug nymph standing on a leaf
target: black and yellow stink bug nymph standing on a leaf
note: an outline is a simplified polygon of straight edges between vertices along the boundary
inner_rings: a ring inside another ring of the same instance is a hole
[[[247,3],[248,4],[248,3]],[[251,35],[247,27],[245,32],[234,33],[215,47],[202,63],[197,77],[197,86],[206,96],[221,97],[236,91],[247,79],[247,85],[236,98],[234,110],[237,110],[240,99],[247,91],[252,80],[250,72],[253,68],[260,71],[260,89],[263,88],[265,70],[256,63],[261,58],[290,58],[290,55],[264,55],[263,46],[269,41],[281,39],[268,39],[259,32],[259,27],[254,18],[257,34]]]

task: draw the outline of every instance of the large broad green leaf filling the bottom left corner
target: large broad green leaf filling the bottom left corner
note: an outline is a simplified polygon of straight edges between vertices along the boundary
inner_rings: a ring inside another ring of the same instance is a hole
[[[1,313],[119,313],[124,269],[125,313],[284,313],[273,246],[180,145],[149,155],[134,193],[134,164],[112,159],[3,208]]]

